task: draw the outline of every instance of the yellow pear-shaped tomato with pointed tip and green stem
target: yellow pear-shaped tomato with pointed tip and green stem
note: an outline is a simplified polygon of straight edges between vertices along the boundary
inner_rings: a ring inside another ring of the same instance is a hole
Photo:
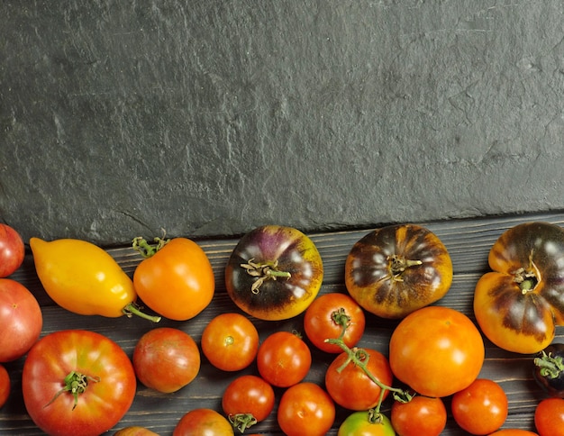
[[[139,312],[132,279],[100,247],[74,239],[30,240],[35,270],[45,291],[59,306],[82,315],[117,318]]]

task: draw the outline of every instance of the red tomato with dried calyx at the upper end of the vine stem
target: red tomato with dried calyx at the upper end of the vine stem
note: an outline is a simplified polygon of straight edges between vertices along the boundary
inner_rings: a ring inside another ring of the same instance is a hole
[[[339,338],[346,326],[342,340],[349,348],[354,347],[364,333],[366,318],[362,308],[350,295],[329,293],[318,296],[305,310],[304,330],[315,347],[328,353],[341,353],[336,344],[328,343],[329,338]]]

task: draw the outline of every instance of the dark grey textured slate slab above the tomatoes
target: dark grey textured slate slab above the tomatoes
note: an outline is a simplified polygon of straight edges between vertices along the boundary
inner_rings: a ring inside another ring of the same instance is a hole
[[[564,2],[0,2],[27,241],[564,208]]]

